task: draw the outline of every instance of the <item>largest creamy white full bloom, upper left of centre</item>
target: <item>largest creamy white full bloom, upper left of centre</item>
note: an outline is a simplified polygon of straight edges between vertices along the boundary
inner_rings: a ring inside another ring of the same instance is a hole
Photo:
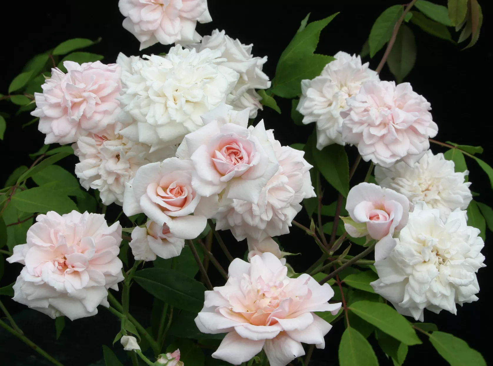
[[[118,56],[122,67],[121,134],[151,152],[181,143],[204,124],[200,116],[226,100],[239,74],[220,65],[219,50],[172,47],[166,56]]]

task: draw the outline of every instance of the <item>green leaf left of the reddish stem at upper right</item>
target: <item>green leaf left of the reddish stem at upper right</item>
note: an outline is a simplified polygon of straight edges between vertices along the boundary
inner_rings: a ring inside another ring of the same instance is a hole
[[[375,56],[375,54],[390,40],[390,37],[392,37],[394,25],[402,15],[403,9],[404,6],[402,5],[390,6],[380,14],[373,24],[370,31],[370,37],[368,38],[371,58],[373,58],[373,56]]]

